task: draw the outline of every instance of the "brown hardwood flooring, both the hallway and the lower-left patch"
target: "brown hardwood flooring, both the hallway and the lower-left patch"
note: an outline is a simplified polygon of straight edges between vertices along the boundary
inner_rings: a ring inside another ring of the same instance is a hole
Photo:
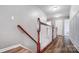
[[[64,40],[62,36],[58,36],[50,46],[43,53],[77,53],[77,49],[73,46],[71,41]],[[16,47],[5,51],[3,53],[31,53],[23,47]]]

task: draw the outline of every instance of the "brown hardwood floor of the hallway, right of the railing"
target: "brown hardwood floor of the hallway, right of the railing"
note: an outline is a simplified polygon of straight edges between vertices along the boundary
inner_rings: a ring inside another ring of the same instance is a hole
[[[44,51],[44,53],[76,53],[77,49],[71,41],[64,40],[62,36],[58,36],[53,43]]]

